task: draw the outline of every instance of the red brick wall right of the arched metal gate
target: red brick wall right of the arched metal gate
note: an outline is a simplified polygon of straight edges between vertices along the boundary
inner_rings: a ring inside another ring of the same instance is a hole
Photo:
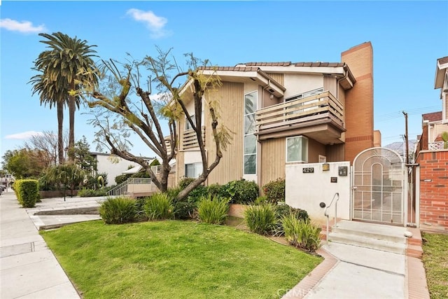
[[[448,232],[448,150],[421,151],[420,226]]]

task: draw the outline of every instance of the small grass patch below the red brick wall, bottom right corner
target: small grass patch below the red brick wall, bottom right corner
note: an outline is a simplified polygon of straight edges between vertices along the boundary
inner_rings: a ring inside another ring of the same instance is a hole
[[[423,232],[423,265],[431,299],[448,298],[448,235]]]

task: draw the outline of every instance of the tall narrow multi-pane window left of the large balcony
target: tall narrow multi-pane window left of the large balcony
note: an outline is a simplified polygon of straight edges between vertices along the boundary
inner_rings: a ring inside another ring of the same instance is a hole
[[[257,173],[257,137],[253,134],[257,95],[254,91],[244,96],[244,174]]]

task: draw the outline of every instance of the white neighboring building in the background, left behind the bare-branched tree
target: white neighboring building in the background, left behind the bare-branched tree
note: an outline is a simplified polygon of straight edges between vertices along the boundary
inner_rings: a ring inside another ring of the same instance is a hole
[[[130,169],[130,167],[138,166],[135,162],[124,160],[109,153],[90,153],[90,155],[97,160],[97,173],[105,172],[107,174],[107,186],[115,184],[116,176],[123,174],[123,172]],[[155,158],[144,157],[144,159],[148,163],[151,163]]]

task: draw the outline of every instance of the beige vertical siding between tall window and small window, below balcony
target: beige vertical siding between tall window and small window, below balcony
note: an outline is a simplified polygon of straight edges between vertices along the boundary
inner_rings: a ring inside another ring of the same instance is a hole
[[[261,144],[260,187],[269,181],[285,178],[286,139],[267,139]]]

